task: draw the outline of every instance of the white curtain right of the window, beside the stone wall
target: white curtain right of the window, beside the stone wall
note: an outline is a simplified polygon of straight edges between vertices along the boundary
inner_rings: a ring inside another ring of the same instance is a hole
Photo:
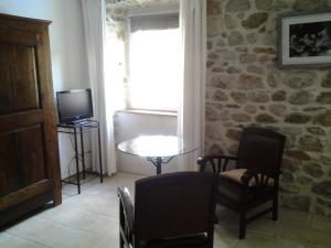
[[[178,116],[178,136],[199,149],[193,155],[179,157],[179,170],[196,170],[204,149],[204,99],[206,56],[206,1],[180,0],[183,85]]]

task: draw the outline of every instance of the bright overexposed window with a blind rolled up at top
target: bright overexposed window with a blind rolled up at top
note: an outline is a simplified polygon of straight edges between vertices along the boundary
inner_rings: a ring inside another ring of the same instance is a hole
[[[180,54],[178,14],[130,18],[129,108],[177,111]]]

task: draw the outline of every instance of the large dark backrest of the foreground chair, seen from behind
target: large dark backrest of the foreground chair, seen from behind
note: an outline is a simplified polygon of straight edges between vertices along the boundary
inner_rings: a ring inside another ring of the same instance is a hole
[[[216,176],[177,172],[136,182],[135,227],[152,240],[213,231]]]

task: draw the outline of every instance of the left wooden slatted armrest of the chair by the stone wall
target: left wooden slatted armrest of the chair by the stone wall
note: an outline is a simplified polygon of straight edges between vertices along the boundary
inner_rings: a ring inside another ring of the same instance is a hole
[[[236,161],[236,157],[232,155],[205,155],[197,159],[197,164],[200,165],[200,171],[203,172],[206,165],[211,165],[214,173],[220,173],[226,171],[226,166],[229,160]]]

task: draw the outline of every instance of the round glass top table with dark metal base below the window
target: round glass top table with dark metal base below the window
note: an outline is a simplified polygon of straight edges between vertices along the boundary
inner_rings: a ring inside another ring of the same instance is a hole
[[[147,158],[157,168],[157,174],[161,174],[163,163],[196,149],[193,142],[175,136],[140,136],[118,144],[118,150],[124,153]]]

